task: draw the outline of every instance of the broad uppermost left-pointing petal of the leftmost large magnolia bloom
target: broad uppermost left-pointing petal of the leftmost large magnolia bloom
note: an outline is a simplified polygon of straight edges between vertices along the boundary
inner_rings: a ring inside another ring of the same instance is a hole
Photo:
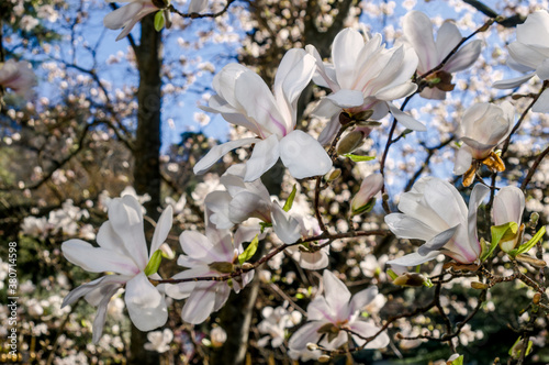
[[[81,240],[64,242],[61,251],[67,261],[90,273],[114,272],[131,276],[139,273],[132,257],[115,251],[93,247]]]

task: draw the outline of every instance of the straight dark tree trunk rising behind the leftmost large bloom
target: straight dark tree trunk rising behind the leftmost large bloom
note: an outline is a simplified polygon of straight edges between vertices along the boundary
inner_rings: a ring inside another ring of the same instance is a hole
[[[161,106],[161,34],[155,31],[154,14],[142,22],[141,44],[134,47],[139,69],[139,88],[137,91],[137,134],[134,146],[134,187],[138,195],[149,195],[145,203],[147,215],[158,220],[160,207],[160,106]],[[147,237],[152,236],[148,226]],[[150,242],[150,240],[147,240]],[[143,345],[147,334],[132,324],[131,356],[128,364],[158,364],[156,352],[146,351]]]

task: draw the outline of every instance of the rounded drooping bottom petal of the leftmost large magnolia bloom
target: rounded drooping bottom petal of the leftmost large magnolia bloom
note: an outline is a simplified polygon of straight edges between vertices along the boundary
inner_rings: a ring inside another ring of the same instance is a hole
[[[164,295],[143,273],[127,281],[124,301],[130,319],[139,331],[152,331],[168,320]]]

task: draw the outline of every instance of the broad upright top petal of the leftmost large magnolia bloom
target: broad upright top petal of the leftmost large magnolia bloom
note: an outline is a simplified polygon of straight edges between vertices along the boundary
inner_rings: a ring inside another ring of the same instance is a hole
[[[127,253],[139,269],[145,269],[148,263],[147,242],[143,226],[142,206],[133,196],[111,200],[109,204],[109,221],[114,232],[122,239]]]

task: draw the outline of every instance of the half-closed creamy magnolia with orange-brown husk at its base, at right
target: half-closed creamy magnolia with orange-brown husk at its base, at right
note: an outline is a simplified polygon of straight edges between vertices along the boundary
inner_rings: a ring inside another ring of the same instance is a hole
[[[495,146],[509,135],[514,119],[515,108],[507,101],[501,107],[477,103],[466,110],[458,130],[463,145],[456,154],[453,174],[464,174],[473,159],[488,158]]]

